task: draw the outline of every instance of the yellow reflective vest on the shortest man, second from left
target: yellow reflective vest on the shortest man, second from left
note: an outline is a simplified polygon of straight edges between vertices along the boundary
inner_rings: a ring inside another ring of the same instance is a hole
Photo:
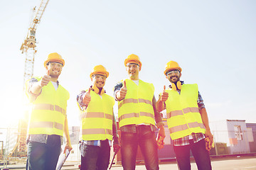
[[[114,98],[90,91],[91,101],[82,113],[82,140],[112,140]]]

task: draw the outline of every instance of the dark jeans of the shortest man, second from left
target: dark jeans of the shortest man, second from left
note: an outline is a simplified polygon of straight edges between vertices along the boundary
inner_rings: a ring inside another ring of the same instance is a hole
[[[108,140],[100,142],[100,147],[80,142],[81,170],[107,170],[110,164],[110,144]]]

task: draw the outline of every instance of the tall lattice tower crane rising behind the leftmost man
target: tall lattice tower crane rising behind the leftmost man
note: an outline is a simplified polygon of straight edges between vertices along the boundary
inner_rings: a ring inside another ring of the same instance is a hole
[[[36,28],[38,27],[39,23],[41,22],[41,18],[43,16],[43,12],[46,10],[46,6],[48,4],[49,0],[41,0],[41,4],[39,8],[36,10],[36,7],[33,8],[33,11],[35,11],[35,15],[32,18],[32,21],[30,23],[30,26],[28,28],[28,34],[26,35],[26,38],[24,42],[21,45],[21,53],[25,53],[26,60],[25,60],[25,72],[23,77],[23,92],[25,92],[26,89],[26,81],[28,79],[31,79],[33,76],[33,65],[34,65],[34,59],[36,55]],[[28,112],[28,111],[26,111]],[[25,115],[28,115],[28,113],[24,113]],[[14,152],[17,152],[18,155],[16,157],[26,157],[26,131],[27,131],[27,125],[28,120],[19,120],[18,122],[18,139],[17,143],[12,150],[12,152],[9,154],[9,157],[11,157]]]

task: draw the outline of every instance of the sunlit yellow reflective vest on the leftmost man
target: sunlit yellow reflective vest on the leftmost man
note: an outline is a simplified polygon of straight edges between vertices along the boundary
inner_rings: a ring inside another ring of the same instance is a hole
[[[41,78],[35,77],[38,81]],[[51,81],[43,86],[41,94],[32,103],[28,134],[63,136],[69,92],[58,85],[55,90]]]

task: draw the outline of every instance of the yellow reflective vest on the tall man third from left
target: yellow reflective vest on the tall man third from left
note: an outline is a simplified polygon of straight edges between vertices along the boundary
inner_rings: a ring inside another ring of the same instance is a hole
[[[118,102],[119,127],[142,123],[155,125],[152,99],[154,85],[139,80],[139,86],[126,79],[127,94]]]

